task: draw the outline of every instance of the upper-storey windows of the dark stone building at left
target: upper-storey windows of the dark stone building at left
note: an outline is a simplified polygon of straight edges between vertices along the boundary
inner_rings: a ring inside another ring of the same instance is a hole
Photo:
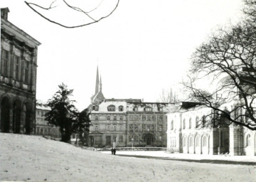
[[[1,74],[8,77],[9,68],[11,67],[11,58],[9,51],[3,50],[1,56]],[[12,77],[14,80],[23,81],[26,84],[29,83],[29,63],[26,60],[21,60],[20,57],[14,55],[14,72]]]

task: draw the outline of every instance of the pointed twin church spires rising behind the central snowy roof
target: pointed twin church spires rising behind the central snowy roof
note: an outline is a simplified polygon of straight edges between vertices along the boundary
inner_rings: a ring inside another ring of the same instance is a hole
[[[102,102],[103,100],[105,100],[105,97],[102,93],[102,79],[101,79],[101,76],[99,79],[99,68],[97,66],[95,95],[91,97],[91,102],[92,102],[92,105],[100,105],[100,102]]]

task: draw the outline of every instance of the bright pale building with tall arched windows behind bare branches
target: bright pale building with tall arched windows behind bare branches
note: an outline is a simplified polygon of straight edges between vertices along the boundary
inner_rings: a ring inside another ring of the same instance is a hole
[[[226,109],[227,112],[232,110],[235,102],[238,101],[234,100],[225,104],[222,109]],[[256,132],[236,124],[210,127],[202,118],[212,112],[210,108],[198,105],[198,103],[177,104],[167,114],[167,151],[185,154],[255,156]],[[239,112],[245,114],[243,109]],[[234,114],[230,117],[235,118]],[[228,123],[228,121],[222,123]]]

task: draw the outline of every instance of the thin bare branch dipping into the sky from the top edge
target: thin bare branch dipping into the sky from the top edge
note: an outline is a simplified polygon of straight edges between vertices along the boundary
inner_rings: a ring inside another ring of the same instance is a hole
[[[58,0],[52,1],[48,7],[43,7],[39,4],[34,4],[28,1],[25,1],[25,3],[29,8],[31,8],[34,12],[36,12],[36,14],[38,14],[42,18],[45,18],[47,21],[50,21],[51,23],[55,23],[59,26],[63,26],[65,28],[78,28],[78,27],[88,26],[92,23],[97,23],[99,21],[102,21],[102,19],[109,17],[117,9],[117,6],[119,5],[119,0],[117,0],[117,3],[115,4],[115,6],[106,15],[104,15],[105,13],[102,11],[100,12],[100,14],[102,14],[100,18],[95,18],[91,14],[97,11],[98,9],[100,9],[100,6],[102,6],[103,0],[101,0],[99,4],[97,4],[95,7],[93,7],[90,10],[85,10],[85,9],[82,9],[81,7],[73,6],[70,3],[68,3],[68,0],[59,0],[63,4],[63,6],[65,6],[65,8],[73,10],[75,13],[79,12],[81,16],[85,16],[87,18],[87,21],[85,23],[80,23],[75,26],[69,26],[69,25],[65,25],[64,23],[54,21],[53,18],[49,18],[48,16],[45,15],[46,11],[54,11],[54,9],[58,7],[58,5],[55,5],[56,1]]]

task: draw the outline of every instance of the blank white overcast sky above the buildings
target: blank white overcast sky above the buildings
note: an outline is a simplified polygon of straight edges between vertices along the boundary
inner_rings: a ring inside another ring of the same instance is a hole
[[[46,0],[31,1],[47,6]],[[114,2],[104,0],[102,6],[112,8]],[[59,9],[50,16],[68,25],[84,23],[56,3]],[[1,0],[0,5],[9,7],[11,23],[42,43],[37,99],[47,101],[64,82],[74,89],[81,110],[95,92],[97,65],[106,98],[156,102],[162,89],[176,87],[186,76],[196,46],[218,25],[238,21],[242,0],[120,0],[110,17],[72,29],[44,20],[21,0]],[[95,16],[101,12],[105,15],[98,9]]]

